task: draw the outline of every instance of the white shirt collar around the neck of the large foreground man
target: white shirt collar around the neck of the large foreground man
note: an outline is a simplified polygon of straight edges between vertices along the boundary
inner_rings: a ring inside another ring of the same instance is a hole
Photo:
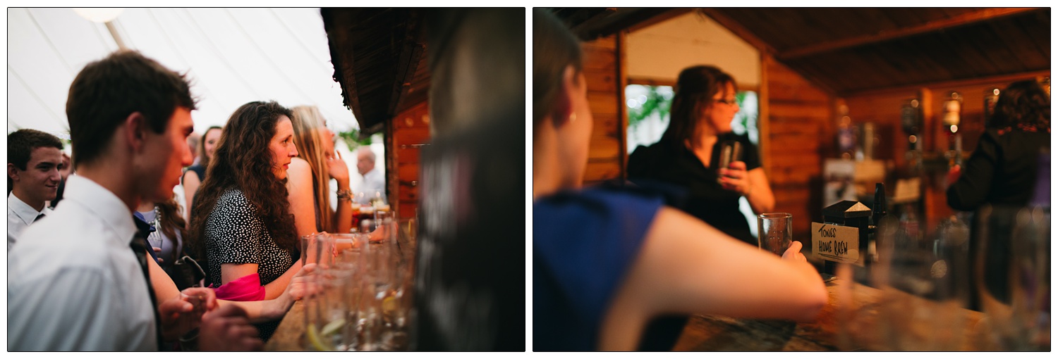
[[[135,224],[132,222],[132,211],[113,192],[99,186],[99,184],[71,174],[67,177],[66,190],[63,190],[62,203],[67,201],[76,203],[85,210],[94,213],[117,235],[117,241],[123,245],[128,245],[132,235],[136,232]]]

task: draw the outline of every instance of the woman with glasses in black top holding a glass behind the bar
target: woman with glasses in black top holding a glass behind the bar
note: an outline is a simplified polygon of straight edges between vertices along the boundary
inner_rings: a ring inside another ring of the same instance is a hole
[[[738,199],[745,196],[754,213],[771,211],[776,199],[756,147],[745,135],[731,133],[738,112],[734,79],[714,67],[697,65],[679,73],[675,90],[669,128],[657,144],[628,156],[628,178],[675,189],[681,200],[673,205],[755,246]],[[742,160],[716,168],[725,140],[741,143]]]

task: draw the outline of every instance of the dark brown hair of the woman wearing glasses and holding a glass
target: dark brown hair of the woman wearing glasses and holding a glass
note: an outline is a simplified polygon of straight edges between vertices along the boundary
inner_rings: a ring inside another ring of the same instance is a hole
[[[734,78],[715,67],[696,65],[683,69],[676,79],[675,96],[669,112],[669,128],[661,140],[671,146],[682,146],[698,129],[698,114],[713,103],[713,95],[726,84],[734,86]]]

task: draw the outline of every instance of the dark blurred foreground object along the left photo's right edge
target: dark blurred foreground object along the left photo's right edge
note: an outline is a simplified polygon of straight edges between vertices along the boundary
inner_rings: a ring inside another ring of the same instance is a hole
[[[420,351],[525,351],[525,8],[426,12]]]

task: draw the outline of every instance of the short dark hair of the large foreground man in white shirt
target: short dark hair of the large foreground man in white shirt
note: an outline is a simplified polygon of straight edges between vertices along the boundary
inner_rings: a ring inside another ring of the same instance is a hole
[[[186,75],[139,52],[117,51],[85,65],[67,99],[77,164],[99,157],[114,130],[132,113],[141,113],[151,131],[163,133],[177,107],[195,110]]]

